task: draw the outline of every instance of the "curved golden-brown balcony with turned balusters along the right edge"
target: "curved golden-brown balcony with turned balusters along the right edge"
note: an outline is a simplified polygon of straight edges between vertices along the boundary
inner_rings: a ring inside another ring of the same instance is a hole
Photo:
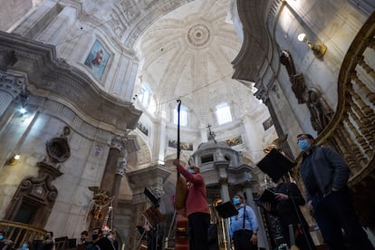
[[[375,226],[375,13],[346,53],[338,80],[339,102],[331,123],[316,139],[330,145],[351,168],[349,186],[363,226]]]

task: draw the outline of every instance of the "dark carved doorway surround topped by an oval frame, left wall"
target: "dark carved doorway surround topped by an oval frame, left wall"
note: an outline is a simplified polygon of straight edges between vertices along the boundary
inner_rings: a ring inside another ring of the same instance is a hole
[[[37,163],[37,177],[26,177],[18,186],[7,207],[5,219],[43,228],[53,209],[58,190],[53,180],[63,175],[59,163],[69,159],[71,150],[65,136],[70,129],[63,129],[63,136],[50,139],[46,143],[47,158]]]

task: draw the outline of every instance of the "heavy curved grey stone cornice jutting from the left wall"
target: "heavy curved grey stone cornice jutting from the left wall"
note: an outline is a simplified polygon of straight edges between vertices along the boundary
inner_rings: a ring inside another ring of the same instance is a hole
[[[0,32],[0,54],[10,51],[16,63],[8,69],[26,73],[27,89],[33,94],[61,102],[91,125],[116,134],[136,128],[141,111],[102,91],[85,73],[57,58],[53,45]]]

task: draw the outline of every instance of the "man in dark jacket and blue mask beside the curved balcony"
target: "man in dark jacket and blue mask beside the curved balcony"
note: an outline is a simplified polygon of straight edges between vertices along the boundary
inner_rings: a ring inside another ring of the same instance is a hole
[[[307,204],[329,249],[374,249],[355,215],[345,159],[329,147],[317,147],[310,134],[298,135],[297,143],[303,150],[300,171]]]

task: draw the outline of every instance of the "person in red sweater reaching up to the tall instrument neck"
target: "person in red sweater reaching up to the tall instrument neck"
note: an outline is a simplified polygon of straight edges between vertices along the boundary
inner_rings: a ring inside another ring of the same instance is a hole
[[[199,168],[184,168],[178,159],[173,160],[178,172],[187,179],[186,214],[190,250],[208,249],[208,227],[210,210],[207,204],[206,183]]]

